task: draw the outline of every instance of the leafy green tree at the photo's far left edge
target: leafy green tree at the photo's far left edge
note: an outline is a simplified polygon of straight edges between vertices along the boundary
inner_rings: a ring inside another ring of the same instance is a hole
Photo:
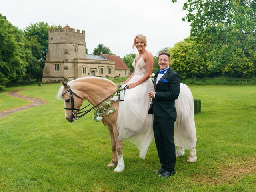
[[[25,76],[27,54],[22,31],[0,14],[0,90],[8,82]]]

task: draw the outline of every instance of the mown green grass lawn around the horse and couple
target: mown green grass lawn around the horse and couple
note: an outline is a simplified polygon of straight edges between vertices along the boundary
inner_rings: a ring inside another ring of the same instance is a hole
[[[145,160],[124,142],[124,172],[108,168],[107,128],[94,123],[92,112],[67,122],[63,101],[55,99],[59,87],[22,87],[20,94],[46,104],[0,119],[0,191],[256,191],[256,86],[189,86],[202,101],[195,114],[198,161],[188,164],[186,150],[167,179],[152,172],[160,166],[154,142]],[[27,104],[0,93],[0,111],[18,103]]]

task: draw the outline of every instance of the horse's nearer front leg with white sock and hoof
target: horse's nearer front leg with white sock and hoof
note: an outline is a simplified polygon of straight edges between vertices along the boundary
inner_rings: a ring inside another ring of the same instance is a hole
[[[116,127],[113,127],[113,132],[114,132],[114,136],[116,139],[116,151],[117,151],[117,159],[118,159],[117,166],[114,169],[114,171],[121,172],[124,170],[124,167],[125,167],[124,166],[124,158],[123,158],[123,141],[117,140],[119,133],[118,133],[118,130]]]

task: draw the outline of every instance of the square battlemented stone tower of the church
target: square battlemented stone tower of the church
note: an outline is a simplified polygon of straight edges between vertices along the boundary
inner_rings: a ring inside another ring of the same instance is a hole
[[[65,26],[50,29],[48,52],[42,82],[59,82],[64,77],[78,78],[78,64],[74,59],[85,57],[85,31]]]

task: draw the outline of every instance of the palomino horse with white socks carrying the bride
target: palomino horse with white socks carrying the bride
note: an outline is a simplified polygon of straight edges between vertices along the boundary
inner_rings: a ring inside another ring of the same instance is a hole
[[[116,84],[112,81],[107,80],[105,78],[99,77],[84,77],[72,80],[68,83],[61,82],[62,86],[58,92],[58,98],[64,98],[64,106],[65,106],[65,116],[69,122],[74,122],[76,120],[76,115],[79,112],[80,107],[82,106],[83,100],[88,100],[93,106],[96,106],[102,100],[110,96],[117,90]],[[185,85],[186,86],[186,85]],[[183,86],[181,86],[182,88]],[[184,88],[184,87],[183,87]],[[190,90],[189,90],[190,91]],[[185,92],[180,92],[181,94]],[[191,94],[192,95],[192,94]],[[184,95],[184,97],[186,97]],[[118,140],[118,128],[116,127],[116,120],[118,115],[118,105],[119,100],[112,103],[113,107],[116,107],[116,112],[109,114],[109,117],[106,118],[103,115],[102,122],[105,126],[108,127],[108,131],[110,133],[111,138],[111,146],[112,146],[112,159],[108,164],[109,167],[116,166],[114,169],[115,172],[121,172],[124,170],[124,160],[123,160],[123,141]],[[191,103],[190,103],[191,106]],[[188,118],[188,115],[182,116],[181,109],[177,108],[177,115],[180,115],[180,118],[177,117],[178,126],[186,126],[188,123],[182,123],[184,119]],[[191,110],[190,110],[191,111]],[[192,97],[192,114],[194,112],[193,109],[193,97]],[[194,120],[194,115],[193,115]],[[176,128],[176,127],[175,127]],[[181,131],[186,131],[186,128],[181,128]],[[195,126],[194,126],[194,135],[195,135]],[[182,132],[177,132],[176,134],[182,135]],[[188,139],[190,139],[191,131],[186,134]],[[180,137],[178,137],[180,138]],[[190,139],[193,140],[194,138]],[[190,155],[188,158],[188,162],[196,161],[196,139],[192,142],[188,142],[190,144]],[[182,144],[178,145],[176,156],[184,155],[184,149]]]

